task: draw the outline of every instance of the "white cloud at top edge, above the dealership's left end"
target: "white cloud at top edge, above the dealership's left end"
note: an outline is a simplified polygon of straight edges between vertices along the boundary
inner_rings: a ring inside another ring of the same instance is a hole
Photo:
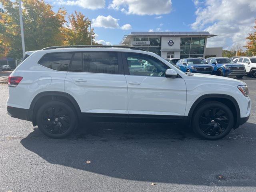
[[[171,0],[112,0],[108,8],[121,10],[126,14],[160,15],[171,12],[172,2]]]

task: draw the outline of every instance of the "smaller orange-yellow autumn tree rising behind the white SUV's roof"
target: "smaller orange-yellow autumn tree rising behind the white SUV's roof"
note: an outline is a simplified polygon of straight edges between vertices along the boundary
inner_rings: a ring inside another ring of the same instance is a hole
[[[65,45],[90,45],[90,20],[81,12],[74,12],[68,16],[69,26],[63,28],[65,34]],[[94,42],[94,32],[92,29],[92,44]]]

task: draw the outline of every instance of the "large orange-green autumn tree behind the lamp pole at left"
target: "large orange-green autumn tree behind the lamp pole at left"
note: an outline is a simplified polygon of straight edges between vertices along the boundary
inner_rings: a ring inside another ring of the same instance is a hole
[[[0,39],[8,48],[8,56],[22,58],[18,0],[0,0],[4,12],[0,12]],[[62,26],[66,23],[66,11],[52,11],[44,0],[23,0],[22,18],[26,51],[48,46],[62,45]]]

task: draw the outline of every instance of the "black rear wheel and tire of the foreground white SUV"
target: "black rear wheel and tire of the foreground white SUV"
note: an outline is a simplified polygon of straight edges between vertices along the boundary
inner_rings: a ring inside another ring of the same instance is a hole
[[[50,138],[60,139],[70,135],[78,124],[74,108],[61,101],[43,104],[37,114],[39,130]]]

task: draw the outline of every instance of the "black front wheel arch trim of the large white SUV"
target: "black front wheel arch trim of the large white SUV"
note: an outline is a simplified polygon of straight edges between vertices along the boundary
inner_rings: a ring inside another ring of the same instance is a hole
[[[206,101],[218,101],[225,105],[227,105],[232,113],[234,114],[234,129],[238,128],[240,125],[240,108],[236,99],[230,95],[225,94],[206,94],[200,96],[194,104],[191,106],[188,112],[188,120],[189,124],[191,124],[193,113],[195,112],[196,108]]]

